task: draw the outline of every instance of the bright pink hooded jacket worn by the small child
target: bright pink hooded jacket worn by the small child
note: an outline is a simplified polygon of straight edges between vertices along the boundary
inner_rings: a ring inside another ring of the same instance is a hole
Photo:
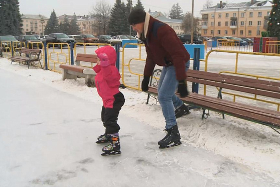
[[[114,95],[119,92],[120,85],[120,74],[115,66],[116,51],[111,46],[105,46],[96,49],[95,53],[100,59],[100,65],[93,67],[96,72],[95,85],[97,92],[103,100],[103,106],[113,108]]]

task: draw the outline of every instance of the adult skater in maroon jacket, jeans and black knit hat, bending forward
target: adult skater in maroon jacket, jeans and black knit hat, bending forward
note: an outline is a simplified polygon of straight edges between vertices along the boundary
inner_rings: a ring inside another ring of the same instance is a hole
[[[154,19],[148,12],[134,9],[128,16],[128,22],[146,47],[143,91],[149,89],[150,76],[156,64],[163,66],[158,85],[158,100],[165,117],[167,135],[158,144],[160,148],[180,145],[181,136],[176,117],[189,114],[189,110],[175,95],[175,90],[178,87],[181,97],[188,95],[185,79],[190,66],[190,55],[175,31],[169,25]]]

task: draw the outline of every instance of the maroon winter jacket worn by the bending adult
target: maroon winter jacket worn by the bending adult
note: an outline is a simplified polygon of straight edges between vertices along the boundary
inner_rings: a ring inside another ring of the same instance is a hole
[[[175,31],[149,15],[146,16],[145,25],[147,59],[144,75],[151,76],[156,64],[166,66],[166,62],[171,62],[175,67],[177,80],[185,80],[185,63],[190,60],[190,54]]]

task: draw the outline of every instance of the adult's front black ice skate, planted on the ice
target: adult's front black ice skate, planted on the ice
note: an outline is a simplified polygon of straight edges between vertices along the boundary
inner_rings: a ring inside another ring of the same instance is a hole
[[[167,135],[161,141],[158,142],[160,149],[174,147],[182,144],[180,141],[181,136],[177,125],[173,126],[170,129],[165,129],[164,131],[167,132]]]

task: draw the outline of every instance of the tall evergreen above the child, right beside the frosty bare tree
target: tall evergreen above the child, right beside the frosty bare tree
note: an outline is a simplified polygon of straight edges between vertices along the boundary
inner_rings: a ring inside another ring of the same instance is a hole
[[[111,10],[111,18],[109,21],[109,33],[112,36],[127,33],[129,28],[125,27],[127,19],[125,16],[125,5],[120,0],[116,0],[114,7]]]

